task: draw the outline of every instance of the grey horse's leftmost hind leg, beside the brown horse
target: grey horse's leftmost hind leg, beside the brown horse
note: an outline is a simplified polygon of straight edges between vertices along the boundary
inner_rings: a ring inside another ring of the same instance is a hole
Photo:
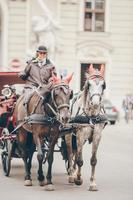
[[[72,135],[71,134],[66,135],[65,141],[67,145],[67,155],[68,155],[68,175],[69,175],[68,182],[74,183]]]

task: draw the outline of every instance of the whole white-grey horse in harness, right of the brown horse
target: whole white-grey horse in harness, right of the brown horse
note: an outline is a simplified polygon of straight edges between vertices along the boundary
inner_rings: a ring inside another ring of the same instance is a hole
[[[98,190],[95,182],[95,166],[97,163],[96,155],[102,130],[106,123],[105,120],[100,120],[100,116],[104,116],[102,97],[105,89],[105,80],[103,76],[103,65],[101,65],[100,71],[95,70],[91,65],[84,89],[78,94],[72,104],[72,117],[75,117],[75,119],[77,117],[85,120],[88,119],[93,126],[85,122],[82,125],[79,125],[79,128],[76,129],[75,139],[71,134],[65,136],[68,156],[69,183],[74,182],[77,185],[82,184],[81,167],[83,165],[83,145],[87,140],[89,143],[92,143],[92,156],[90,159],[92,167],[89,187],[90,191]],[[75,147],[73,146],[75,143],[73,140],[76,141]]]

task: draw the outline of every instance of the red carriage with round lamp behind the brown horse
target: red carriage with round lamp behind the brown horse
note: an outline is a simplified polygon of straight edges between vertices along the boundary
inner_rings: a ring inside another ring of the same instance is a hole
[[[10,83],[10,85],[8,85]],[[17,153],[15,121],[12,113],[16,100],[22,92],[24,81],[16,72],[0,72],[0,149],[5,176],[9,176],[11,158],[19,158]]]

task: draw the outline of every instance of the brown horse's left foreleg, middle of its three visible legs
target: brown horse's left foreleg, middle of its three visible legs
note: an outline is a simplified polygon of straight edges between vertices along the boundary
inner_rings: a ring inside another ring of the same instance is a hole
[[[42,169],[42,164],[43,164],[43,158],[44,158],[44,153],[42,151],[42,143],[41,139],[38,135],[33,134],[34,141],[37,147],[37,160],[38,160],[38,181],[40,186],[44,186],[44,174],[43,174],[43,169]]]

